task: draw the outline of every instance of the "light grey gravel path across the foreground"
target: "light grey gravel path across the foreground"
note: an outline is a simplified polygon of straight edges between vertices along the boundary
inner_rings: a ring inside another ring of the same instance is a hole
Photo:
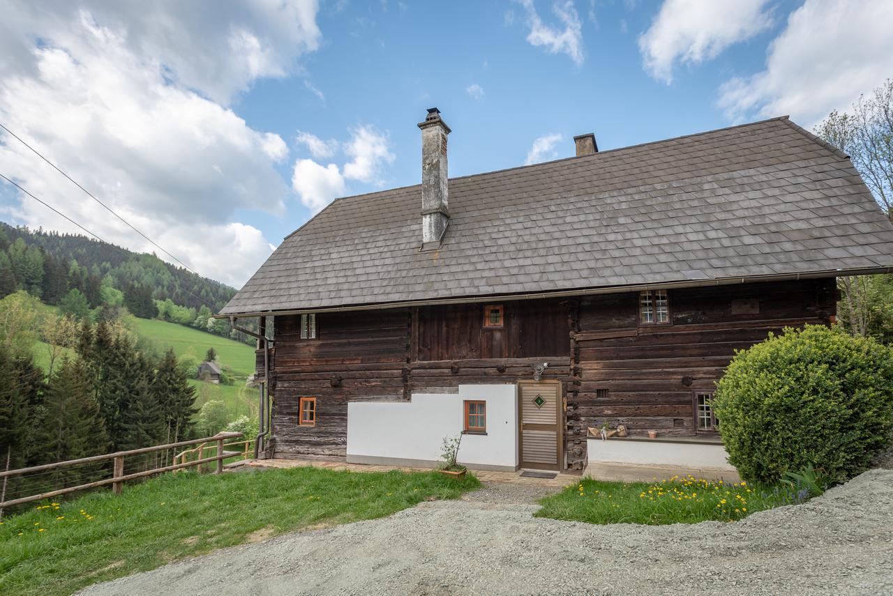
[[[893,594],[891,470],[734,524],[590,526],[474,498],[219,550],[82,593]]]

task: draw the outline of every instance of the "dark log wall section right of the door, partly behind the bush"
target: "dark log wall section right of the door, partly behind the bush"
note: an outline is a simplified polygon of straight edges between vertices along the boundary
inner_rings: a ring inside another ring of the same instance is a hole
[[[635,293],[581,299],[567,393],[571,467],[585,466],[587,427],[605,420],[632,435],[694,435],[695,393],[714,390],[735,351],[783,327],[827,324],[835,292],[833,279],[671,290],[671,325],[639,325]]]

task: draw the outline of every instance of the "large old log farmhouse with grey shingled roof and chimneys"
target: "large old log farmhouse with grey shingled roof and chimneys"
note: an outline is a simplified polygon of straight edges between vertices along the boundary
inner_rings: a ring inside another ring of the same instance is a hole
[[[270,337],[267,457],[430,466],[462,433],[470,468],[722,471],[734,352],[893,270],[847,155],[786,117],[462,178],[418,126],[421,185],[331,203],[221,310]]]

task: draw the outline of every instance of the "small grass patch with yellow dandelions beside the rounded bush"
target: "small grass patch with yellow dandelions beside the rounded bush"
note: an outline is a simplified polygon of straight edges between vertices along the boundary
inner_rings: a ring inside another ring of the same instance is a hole
[[[539,501],[538,517],[590,524],[696,524],[735,521],[755,511],[789,505],[787,489],[697,480],[693,476],[652,484],[584,478]]]

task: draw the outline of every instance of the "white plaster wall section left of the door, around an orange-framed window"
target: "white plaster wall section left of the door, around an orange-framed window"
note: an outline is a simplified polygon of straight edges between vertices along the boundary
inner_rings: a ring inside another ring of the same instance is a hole
[[[469,468],[518,467],[515,385],[459,385],[459,393],[413,393],[412,401],[347,403],[347,461],[417,463],[440,460],[445,436],[463,429],[464,400],[487,402],[487,435],[462,435],[459,463]]]

